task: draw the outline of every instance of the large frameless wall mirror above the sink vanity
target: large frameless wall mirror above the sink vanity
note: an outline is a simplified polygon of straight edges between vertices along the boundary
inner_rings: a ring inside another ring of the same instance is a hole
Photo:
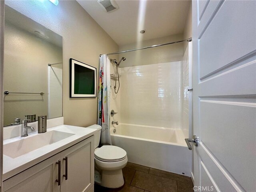
[[[8,6],[4,91],[4,126],[62,116],[62,36]]]

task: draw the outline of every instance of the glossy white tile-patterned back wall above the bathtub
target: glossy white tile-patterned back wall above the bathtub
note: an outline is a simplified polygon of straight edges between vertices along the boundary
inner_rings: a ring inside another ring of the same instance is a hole
[[[180,128],[181,62],[121,68],[121,122]]]

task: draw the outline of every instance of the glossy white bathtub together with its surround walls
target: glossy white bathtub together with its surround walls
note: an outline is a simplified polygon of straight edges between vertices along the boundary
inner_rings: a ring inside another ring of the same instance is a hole
[[[110,125],[112,144],[126,150],[129,162],[191,176],[192,154],[184,141],[192,129],[191,92],[187,91],[191,46],[174,62],[153,53],[151,58],[158,59],[140,58],[139,51],[130,57],[126,54],[119,55],[126,57],[119,70],[120,90],[111,92],[111,109],[119,112],[110,118],[119,123]]]

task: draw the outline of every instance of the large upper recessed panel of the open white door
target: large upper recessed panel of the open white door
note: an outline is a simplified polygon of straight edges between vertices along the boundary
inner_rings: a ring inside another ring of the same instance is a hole
[[[255,7],[256,1],[250,6],[244,1],[222,4],[200,37],[200,78],[255,50],[255,41],[248,38],[255,38]]]

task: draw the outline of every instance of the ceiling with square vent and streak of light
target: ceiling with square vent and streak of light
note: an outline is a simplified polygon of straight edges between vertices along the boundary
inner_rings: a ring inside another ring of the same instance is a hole
[[[116,0],[119,8],[107,13],[97,0],[77,1],[119,46],[183,33],[190,6],[187,0]]]

